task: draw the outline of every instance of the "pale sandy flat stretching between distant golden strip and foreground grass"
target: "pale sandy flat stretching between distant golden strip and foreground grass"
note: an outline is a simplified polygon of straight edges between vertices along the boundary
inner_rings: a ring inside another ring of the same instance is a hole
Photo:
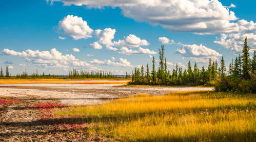
[[[8,84],[0,85],[0,96],[38,96],[67,105],[93,105],[132,94],[163,95],[171,91],[212,90],[210,87],[114,87],[119,84]],[[122,85],[122,84],[120,84]]]

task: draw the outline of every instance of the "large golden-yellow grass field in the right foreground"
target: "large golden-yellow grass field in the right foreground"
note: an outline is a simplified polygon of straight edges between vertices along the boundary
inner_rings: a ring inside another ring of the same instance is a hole
[[[213,91],[140,94],[55,110],[86,133],[122,141],[254,141],[256,95]],[[84,117],[71,117],[83,115]]]

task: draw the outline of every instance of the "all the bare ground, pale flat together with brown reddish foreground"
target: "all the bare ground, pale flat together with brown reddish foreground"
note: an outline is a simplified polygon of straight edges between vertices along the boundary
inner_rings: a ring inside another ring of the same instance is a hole
[[[12,84],[0,85],[0,99],[18,99],[18,103],[0,104],[0,141],[113,141],[97,134],[60,130],[58,123],[42,120],[45,112],[38,103],[94,105],[132,94],[163,95],[171,91],[211,90],[197,87],[113,87],[111,84]]]

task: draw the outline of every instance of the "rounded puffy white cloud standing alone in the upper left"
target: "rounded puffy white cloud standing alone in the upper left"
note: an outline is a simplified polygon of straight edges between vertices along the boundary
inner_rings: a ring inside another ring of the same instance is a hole
[[[73,39],[87,39],[92,37],[93,30],[83,21],[82,17],[67,15],[59,23],[58,27],[63,29],[66,35],[73,37]]]

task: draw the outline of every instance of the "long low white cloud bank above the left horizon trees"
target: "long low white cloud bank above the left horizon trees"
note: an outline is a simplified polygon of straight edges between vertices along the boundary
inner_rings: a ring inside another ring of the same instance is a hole
[[[75,58],[72,54],[62,55],[61,52],[52,48],[50,51],[26,50],[16,52],[14,50],[4,49],[3,54],[23,57],[26,62],[48,69],[62,68],[67,69],[70,66],[86,67],[88,69],[96,69],[86,61]]]

